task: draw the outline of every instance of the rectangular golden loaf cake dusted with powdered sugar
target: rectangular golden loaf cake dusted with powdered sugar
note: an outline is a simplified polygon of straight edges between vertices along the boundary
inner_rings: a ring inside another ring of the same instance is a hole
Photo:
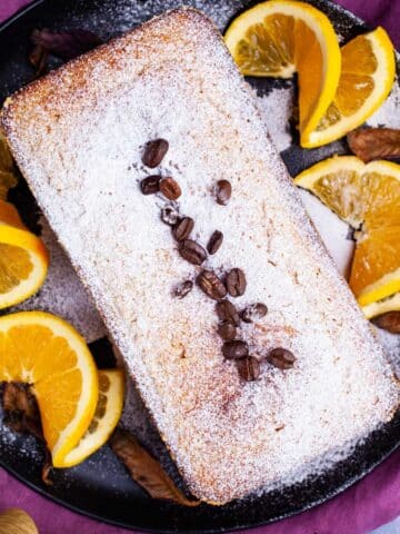
[[[204,16],[167,12],[69,62],[13,95],[1,121],[193,495],[222,504],[300,481],[393,416],[382,350]],[[168,151],[151,169],[154,139]],[[193,241],[222,233],[201,266],[160,219],[164,196],[142,194],[154,174],[179,184],[172,207]],[[220,180],[229,201],[216,201]],[[204,267],[220,280],[241,269],[238,310],[268,308],[237,329],[260,362],[250,382],[222,354],[216,300],[197,284],[176,294]],[[266,357],[277,347],[288,368]]]

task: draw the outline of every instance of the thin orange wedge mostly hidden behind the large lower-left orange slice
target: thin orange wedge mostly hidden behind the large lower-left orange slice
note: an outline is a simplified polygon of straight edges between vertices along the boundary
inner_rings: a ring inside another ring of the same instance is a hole
[[[99,370],[99,399],[87,433],[59,467],[72,467],[100,448],[111,436],[122,413],[124,375],[120,369]]]

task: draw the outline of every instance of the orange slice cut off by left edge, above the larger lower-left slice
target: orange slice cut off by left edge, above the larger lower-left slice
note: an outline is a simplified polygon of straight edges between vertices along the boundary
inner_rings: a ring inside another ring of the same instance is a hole
[[[22,224],[17,209],[0,199],[0,309],[21,303],[43,284],[48,251]]]

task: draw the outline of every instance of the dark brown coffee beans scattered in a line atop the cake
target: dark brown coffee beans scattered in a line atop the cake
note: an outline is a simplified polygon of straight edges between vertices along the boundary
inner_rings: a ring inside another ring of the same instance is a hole
[[[169,149],[166,139],[154,139],[149,141],[142,154],[142,162],[147,167],[158,167]],[[179,243],[178,250],[183,259],[193,265],[201,265],[207,259],[207,251],[210,255],[217,254],[223,240],[223,234],[214,230],[204,248],[192,239],[189,239],[193,230],[194,221],[191,217],[180,217],[179,208],[174,200],[181,195],[182,190],[172,177],[162,177],[160,175],[148,176],[140,182],[143,195],[152,195],[161,192],[169,204],[161,208],[161,220],[172,227],[172,235]],[[219,180],[216,187],[216,199],[221,206],[227,206],[232,195],[232,186],[228,180]],[[198,286],[210,298],[218,300],[216,312],[220,319],[218,325],[218,334],[223,339],[222,354],[227,359],[237,362],[238,373],[242,379],[247,382],[257,380],[260,376],[260,363],[254,356],[249,356],[249,346],[242,339],[236,339],[237,327],[240,319],[244,323],[256,323],[264,317],[268,308],[262,303],[256,303],[243,309],[240,315],[236,306],[224,297],[227,293],[232,297],[240,297],[246,291],[247,280],[244,273],[239,268],[231,269],[224,279],[224,283],[216,275],[213,270],[203,269],[196,279]],[[192,280],[184,280],[173,289],[177,298],[184,298],[193,289]],[[388,314],[386,314],[388,315]],[[386,320],[382,320],[386,319]],[[387,323],[388,329],[394,328],[399,332],[398,316],[382,316],[382,323]],[[394,323],[394,327],[392,324]],[[379,325],[381,326],[381,325]],[[382,325],[383,326],[383,325]],[[384,326],[383,326],[384,327]],[[391,330],[390,330],[391,332]],[[294,356],[286,348],[274,348],[266,357],[266,359],[280,369],[289,369],[294,364]]]

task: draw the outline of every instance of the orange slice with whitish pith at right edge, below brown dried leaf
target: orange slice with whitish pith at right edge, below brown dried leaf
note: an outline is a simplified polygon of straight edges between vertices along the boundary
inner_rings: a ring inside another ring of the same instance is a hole
[[[301,172],[294,184],[313,192],[353,228],[349,284],[360,306],[399,291],[400,166],[333,157]]]

